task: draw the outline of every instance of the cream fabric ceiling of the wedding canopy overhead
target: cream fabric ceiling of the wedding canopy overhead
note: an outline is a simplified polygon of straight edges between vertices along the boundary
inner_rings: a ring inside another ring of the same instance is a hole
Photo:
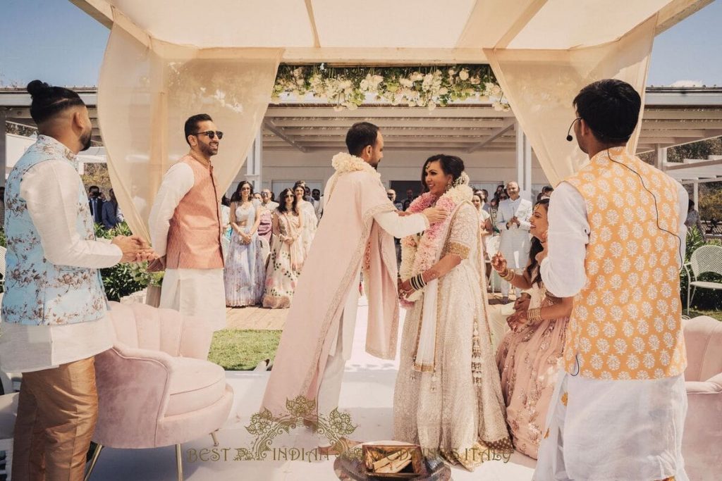
[[[199,48],[284,48],[282,62],[487,63],[483,48],[573,49],[712,0],[70,0],[107,27]],[[624,12],[619,15],[619,12]]]

